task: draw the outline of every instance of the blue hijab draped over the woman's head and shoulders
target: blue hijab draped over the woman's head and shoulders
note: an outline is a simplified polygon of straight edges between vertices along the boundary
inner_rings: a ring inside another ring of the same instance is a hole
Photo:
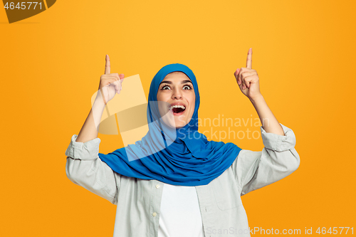
[[[159,83],[168,73],[180,71],[190,80],[195,92],[192,120],[180,128],[162,122],[157,102]],[[119,95],[120,96],[120,95]],[[147,123],[149,131],[135,144],[129,144],[99,158],[118,174],[138,179],[156,179],[167,184],[199,186],[209,184],[228,169],[241,148],[231,142],[208,141],[198,132],[200,104],[197,79],[186,65],[165,65],[151,82],[148,95]]]

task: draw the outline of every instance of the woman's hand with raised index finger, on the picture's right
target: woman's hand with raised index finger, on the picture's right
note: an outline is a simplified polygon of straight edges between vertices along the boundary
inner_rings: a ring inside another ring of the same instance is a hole
[[[256,70],[252,69],[252,48],[248,49],[246,68],[237,68],[234,75],[239,88],[250,100],[261,96],[259,78]]]

